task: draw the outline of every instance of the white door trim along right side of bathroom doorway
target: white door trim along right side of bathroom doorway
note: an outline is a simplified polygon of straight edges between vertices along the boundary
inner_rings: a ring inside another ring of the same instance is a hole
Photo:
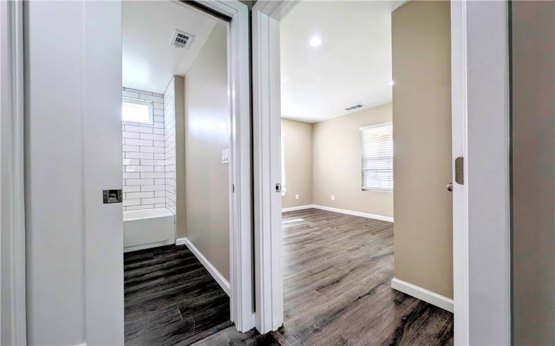
[[[255,327],[250,196],[250,55],[248,7],[237,0],[198,1],[231,18],[228,24],[230,97],[231,320],[238,331]]]

